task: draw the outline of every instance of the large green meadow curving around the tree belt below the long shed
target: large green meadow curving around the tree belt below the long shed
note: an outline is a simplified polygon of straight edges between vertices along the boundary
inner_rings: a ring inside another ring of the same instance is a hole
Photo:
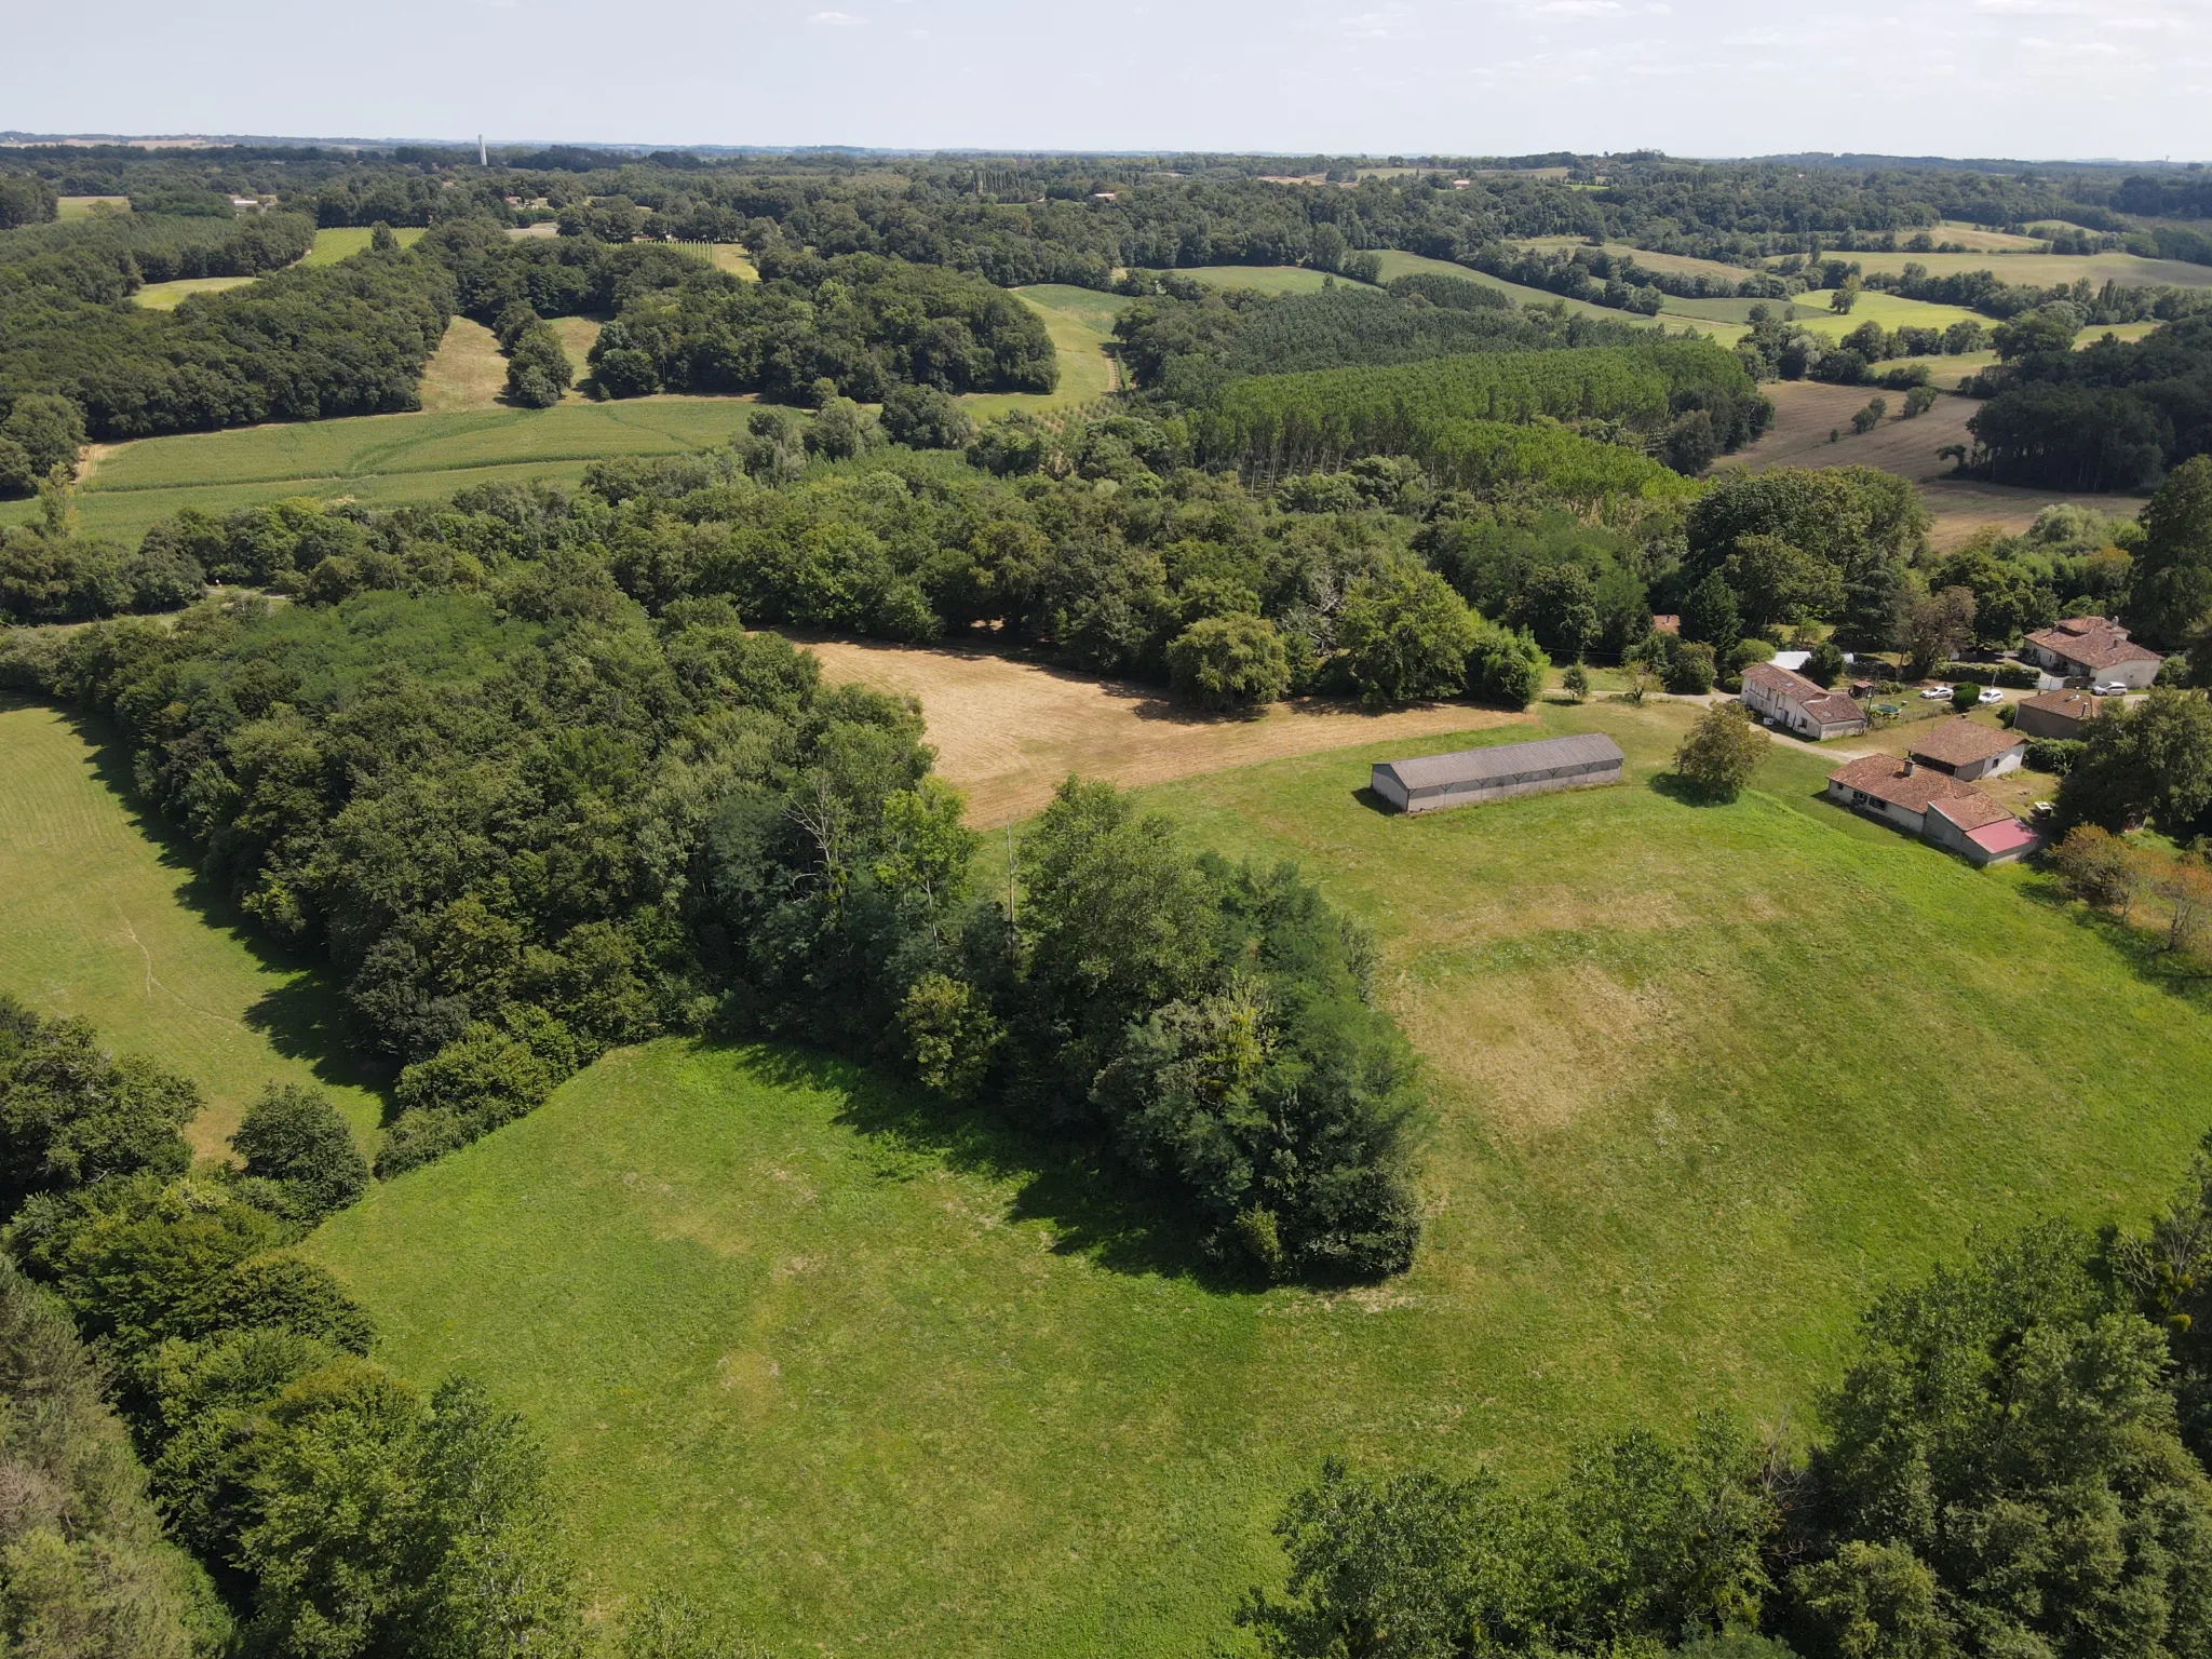
[[[1630,781],[1391,818],[1371,748],[1150,792],[1376,925],[1436,1119],[1400,1281],[1212,1285],[989,1119],[684,1042],[312,1250],[389,1363],[531,1413],[604,1599],[675,1573],[776,1650],[1210,1655],[1325,1453],[1533,1471],[1705,1405],[1801,1429],[1882,1281],[2179,1181],[2203,991],[1820,805],[1818,754],[1701,807],[1650,781],[1679,708],[1542,721],[1615,732]]]

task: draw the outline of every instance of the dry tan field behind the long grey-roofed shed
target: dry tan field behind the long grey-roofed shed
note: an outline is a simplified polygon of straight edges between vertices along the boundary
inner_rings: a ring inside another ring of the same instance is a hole
[[[967,792],[969,821],[995,827],[1044,807],[1068,772],[1164,783],[1283,754],[1349,748],[1520,721],[1464,703],[1369,712],[1301,699],[1254,719],[1199,714],[1157,686],[1093,679],[982,650],[918,650],[801,637],[830,679],[916,697],[938,772]]]

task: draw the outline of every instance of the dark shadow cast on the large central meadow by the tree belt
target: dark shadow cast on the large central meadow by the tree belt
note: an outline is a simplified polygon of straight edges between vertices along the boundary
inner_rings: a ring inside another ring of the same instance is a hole
[[[1212,1292],[1248,1292],[1252,1281],[1206,1254],[1194,1228],[1119,1170],[1084,1137],[1053,1139],[1011,1124],[1002,1108],[956,1104],[872,1066],[787,1044],[737,1044],[761,1077],[843,1099],[836,1121],[867,1137],[887,1181],[936,1164],[1015,1188],[1009,1221],[1044,1221],[1053,1254],[1086,1256],[1133,1276],[1190,1279]]]

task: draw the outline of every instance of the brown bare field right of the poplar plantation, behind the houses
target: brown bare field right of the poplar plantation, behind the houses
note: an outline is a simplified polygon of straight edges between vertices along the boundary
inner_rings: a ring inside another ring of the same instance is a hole
[[[2141,500],[2132,495],[2070,495],[2057,489],[2015,489],[1984,484],[1973,478],[1951,478],[1951,462],[1936,456],[1944,445],[1971,445],[1966,422],[1982,405],[1975,398],[1936,398],[1916,420],[1900,420],[1902,392],[1878,392],[1863,385],[1823,385],[1818,380],[1778,380],[1763,387],[1774,400],[1774,425],[1767,436],[1734,456],[1721,456],[1717,469],[1750,467],[1878,467],[1920,484],[1929,509],[1929,542],[1951,549],[1984,524],[1997,524],[2017,535],[2053,502],[2081,502],[2101,513],[2135,513]],[[1889,418],[1867,434],[1851,431],[1851,416],[1880,396]],[[1836,442],[1829,431],[1840,431]]]

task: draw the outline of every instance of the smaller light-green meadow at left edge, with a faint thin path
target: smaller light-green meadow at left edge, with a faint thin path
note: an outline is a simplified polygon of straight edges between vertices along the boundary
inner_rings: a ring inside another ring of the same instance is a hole
[[[128,754],[0,692],[0,991],[192,1077],[201,1152],[223,1150],[272,1079],[321,1084],[372,1135],[380,1102],[341,1057],[334,998],[148,834],[126,776]]]

